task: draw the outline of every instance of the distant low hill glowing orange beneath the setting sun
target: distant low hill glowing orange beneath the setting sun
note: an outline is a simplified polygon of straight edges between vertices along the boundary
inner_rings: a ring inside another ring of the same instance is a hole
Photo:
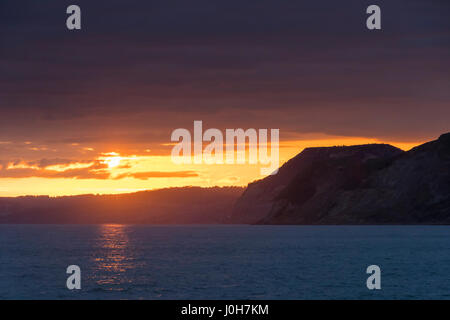
[[[119,195],[0,198],[0,223],[224,223],[243,188],[169,188]]]

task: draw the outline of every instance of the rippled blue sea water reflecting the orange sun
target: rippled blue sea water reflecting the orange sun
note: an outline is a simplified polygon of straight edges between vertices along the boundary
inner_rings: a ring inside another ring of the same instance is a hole
[[[449,298],[447,226],[0,225],[0,299]]]

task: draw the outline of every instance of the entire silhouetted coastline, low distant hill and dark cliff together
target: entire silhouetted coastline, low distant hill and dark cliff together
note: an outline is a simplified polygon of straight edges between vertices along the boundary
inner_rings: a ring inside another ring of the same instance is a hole
[[[307,148],[243,188],[0,198],[0,223],[450,224],[450,133],[408,152]]]

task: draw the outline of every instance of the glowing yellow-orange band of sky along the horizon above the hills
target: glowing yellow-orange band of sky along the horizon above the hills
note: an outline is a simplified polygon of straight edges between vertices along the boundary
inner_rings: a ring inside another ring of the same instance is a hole
[[[376,139],[316,135],[314,139],[282,141],[280,165],[305,147],[380,143]],[[408,150],[420,142],[390,142]],[[86,147],[77,145],[84,150]],[[92,148],[91,148],[92,149]],[[89,150],[95,152],[95,150]],[[0,196],[127,193],[177,186],[246,186],[261,179],[260,165],[176,165],[170,155],[122,155],[111,149],[93,161],[62,164],[9,163],[10,176],[0,178]]]

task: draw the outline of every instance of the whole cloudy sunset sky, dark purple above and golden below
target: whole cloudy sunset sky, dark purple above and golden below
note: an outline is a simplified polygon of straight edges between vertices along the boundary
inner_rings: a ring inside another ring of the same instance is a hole
[[[82,29],[66,28],[77,4]],[[366,28],[381,8],[382,29]],[[450,131],[447,0],[2,0],[0,196],[245,186],[255,165],[176,165],[171,133],[280,129],[309,146]]]

